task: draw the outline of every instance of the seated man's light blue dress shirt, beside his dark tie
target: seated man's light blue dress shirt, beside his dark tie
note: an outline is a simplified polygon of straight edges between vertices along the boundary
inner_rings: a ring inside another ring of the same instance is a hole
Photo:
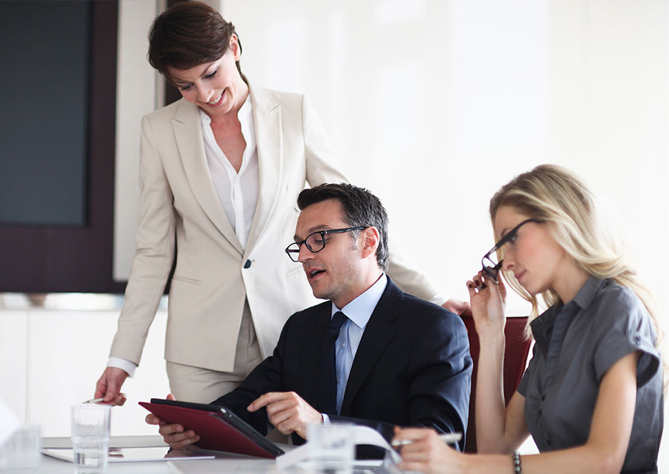
[[[341,311],[347,316],[347,321],[342,325],[339,337],[335,343],[335,368],[337,375],[337,413],[341,412],[346,384],[349,381],[353,359],[356,358],[360,339],[365,332],[371,313],[381,299],[388,278],[382,274],[380,278],[369,287],[365,293],[351,301],[345,307],[338,308],[332,304],[332,316]]]

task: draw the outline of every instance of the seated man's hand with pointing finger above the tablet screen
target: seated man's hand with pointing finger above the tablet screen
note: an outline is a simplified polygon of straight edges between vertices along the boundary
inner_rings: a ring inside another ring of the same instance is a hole
[[[307,439],[307,425],[322,423],[323,416],[295,392],[269,392],[255,399],[250,412],[266,407],[269,422],[284,435],[298,433]]]

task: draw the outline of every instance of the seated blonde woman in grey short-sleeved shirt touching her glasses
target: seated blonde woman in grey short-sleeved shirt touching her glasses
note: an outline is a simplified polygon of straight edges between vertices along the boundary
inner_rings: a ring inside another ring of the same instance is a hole
[[[648,292],[565,169],[541,165],[490,202],[498,242],[467,282],[481,341],[479,453],[460,455],[428,430],[398,430],[405,468],[426,473],[657,473],[663,364]],[[494,253],[496,252],[496,256]],[[500,260],[496,260],[499,258]],[[503,260],[502,260],[503,258]],[[498,261],[499,263],[496,263]],[[548,310],[530,324],[534,352],[507,408],[502,390],[506,281]],[[541,454],[514,453],[532,435]]]

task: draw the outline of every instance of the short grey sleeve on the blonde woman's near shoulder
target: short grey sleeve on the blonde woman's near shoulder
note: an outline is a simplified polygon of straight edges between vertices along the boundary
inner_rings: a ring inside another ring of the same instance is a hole
[[[637,387],[641,388],[655,375],[660,357],[655,348],[655,331],[650,315],[639,298],[628,288],[606,292],[597,306],[594,318],[593,361],[597,379],[620,359],[639,351]]]

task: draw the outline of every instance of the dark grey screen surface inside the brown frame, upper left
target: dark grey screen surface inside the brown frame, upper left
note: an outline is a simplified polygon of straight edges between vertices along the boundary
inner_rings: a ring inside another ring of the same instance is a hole
[[[84,225],[86,1],[0,1],[0,223]]]

